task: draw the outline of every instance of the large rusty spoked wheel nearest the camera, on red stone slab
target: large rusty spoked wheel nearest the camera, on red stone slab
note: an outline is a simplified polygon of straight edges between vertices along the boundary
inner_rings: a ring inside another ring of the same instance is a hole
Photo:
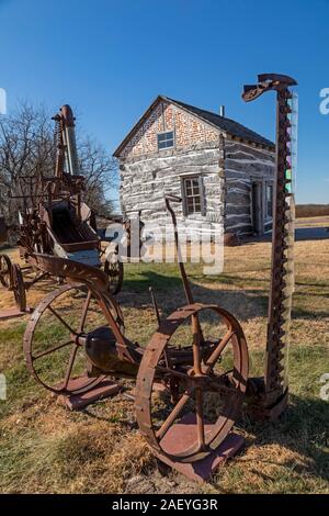
[[[205,334],[214,332],[208,324],[214,317],[220,337],[207,339]],[[182,339],[184,347],[179,352],[191,350],[185,364],[173,351]],[[211,343],[207,349],[206,343]],[[155,452],[174,461],[194,462],[215,450],[239,417],[248,369],[247,343],[231,314],[219,306],[202,304],[172,313],[151,337],[137,375],[137,422]],[[156,392],[159,378],[169,385],[162,400]],[[174,385],[171,393],[170,384]],[[183,425],[184,420],[192,440],[185,442],[181,433],[182,448],[172,451],[170,433],[173,435],[174,425]]]

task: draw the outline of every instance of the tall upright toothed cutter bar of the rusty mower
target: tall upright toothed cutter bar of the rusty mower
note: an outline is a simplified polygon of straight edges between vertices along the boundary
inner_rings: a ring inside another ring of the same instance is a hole
[[[272,267],[268,315],[265,372],[250,382],[254,400],[249,408],[258,417],[275,418],[287,403],[287,355],[294,291],[293,178],[295,167],[297,98],[291,87],[297,82],[286,76],[265,74],[256,86],[245,86],[242,98],[250,102],[266,91],[276,92],[276,165],[274,177]]]

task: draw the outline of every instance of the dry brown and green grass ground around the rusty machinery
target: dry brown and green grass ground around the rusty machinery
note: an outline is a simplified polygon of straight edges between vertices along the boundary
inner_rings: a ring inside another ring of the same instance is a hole
[[[226,249],[225,270],[204,277],[189,266],[195,299],[218,303],[240,321],[251,374],[262,373],[270,273],[269,243]],[[15,251],[10,251],[15,255]],[[70,413],[36,384],[23,360],[26,318],[0,323],[0,491],[5,493],[329,493],[329,403],[319,379],[329,373],[329,239],[298,242],[290,355],[291,400],[274,424],[242,415],[245,450],[202,486],[169,471],[139,435],[133,402],[122,394]],[[127,334],[147,343],[156,328],[148,287],[162,314],[184,304],[175,265],[131,265],[118,295]],[[35,305],[54,287],[29,294]],[[0,309],[8,305],[1,290]],[[45,333],[46,335],[46,333]]]

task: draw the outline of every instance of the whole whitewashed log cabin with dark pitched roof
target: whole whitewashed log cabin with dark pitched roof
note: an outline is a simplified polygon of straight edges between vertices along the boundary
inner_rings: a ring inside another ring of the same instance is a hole
[[[125,217],[166,220],[163,195],[182,198],[180,224],[220,225],[245,237],[271,231],[275,145],[225,116],[158,96],[114,152]]]

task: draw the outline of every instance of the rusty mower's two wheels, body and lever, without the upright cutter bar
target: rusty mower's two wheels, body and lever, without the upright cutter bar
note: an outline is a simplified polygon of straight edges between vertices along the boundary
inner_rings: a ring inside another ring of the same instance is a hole
[[[178,255],[171,204],[180,201],[166,197]],[[125,335],[123,313],[103,271],[48,255],[34,259],[45,273],[60,269],[66,284],[41,302],[27,324],[24,354],[33,377],[70,397],[97,389],[106,375],[136,379],[137,422],[159,457],[192,463],[215,452],[240,413],[248,382],[248,349],[236,318],[220,306],[194,302],[179,261],[188,304],[159,321],[145,348]],[[209,321],[217,325],[216,336]],[[61,366],[58,375],[55,363]],[[206,416],[205,405],[211,408]],[[191,430],[191,441],[185,439],[179,453],[171,448],[177,438],[169,439],[178,419]]]

